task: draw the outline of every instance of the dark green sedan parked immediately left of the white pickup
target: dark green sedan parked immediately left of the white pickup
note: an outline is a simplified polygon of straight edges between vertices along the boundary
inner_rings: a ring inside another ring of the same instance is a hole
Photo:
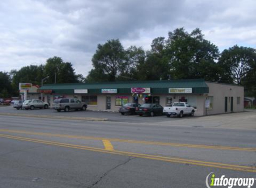
[[[156,114],[162,115],[163,114],[163,106],[159,104],[143,104],[140,107],[135,109],[135,113],[142,116],[142,115],[150,115],[154,116]]]

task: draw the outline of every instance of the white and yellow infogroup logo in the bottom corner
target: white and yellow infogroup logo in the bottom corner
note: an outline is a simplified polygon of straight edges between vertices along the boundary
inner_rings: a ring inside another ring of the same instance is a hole
[[[225,175],[217,178],[214,172],[206,176],[206,187],[213,188],[216,186],[223,186],[233,188],[234,186],[251,188],[256,181],[256,178],[226,178]]]

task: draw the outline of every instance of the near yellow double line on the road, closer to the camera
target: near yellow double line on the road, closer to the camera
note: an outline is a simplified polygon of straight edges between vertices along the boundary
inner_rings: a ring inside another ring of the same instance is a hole
[[[34,143],[43,143],[48,145],[60,146],[60,147],[70,147],[70,148],[76,148],[81,150],[97,151],[97,152],[116,154],[116,155],[126,155],[126,156],[138,157],[143,159],[153,159],[153,160],[159,160],[159,161],[165,161],[165,162],[171,162],[171,163],[194,164],[194,165],[204,166],[204,167],[223,168],[223,169],[230,169],[235,171],[256,173],[256,168],[249,167],[249,166],[241,166],[241,165],[225,164],[225,163],[214,163],[214,162],[206,162],[206,161],[190,160],[190,159],[180,159],[180,158],[174,158],[174,157],[140,154],[140,153],[127,152],[127,151],[117,151],[117,150],[110,151],[110,150],[97,148],[97,147],[87,147],[87,146],[81,146],[81,145],[75,145],[75,144],[69,144],[69,143],[59,143],[59,142],[53,142],[53,141],[47,141],[47,140],[41,140],[41,139],[30,139],[26,137],[13,136],[13,135],[0,134],[0,137],[8,138],[8,139],[23,140],[23,141],[34,142]]]

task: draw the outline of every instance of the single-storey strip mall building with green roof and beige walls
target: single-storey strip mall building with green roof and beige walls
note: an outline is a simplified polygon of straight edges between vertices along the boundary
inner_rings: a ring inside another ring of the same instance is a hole
[[[39,88],[50,104],[56,98],[78,98],[88,110],[112,110],[127,102],[158,103],[188,102],[196,108],[195,115],[243,111],[243,87],[203,79],[133,81],[106,83],[46,84]]]

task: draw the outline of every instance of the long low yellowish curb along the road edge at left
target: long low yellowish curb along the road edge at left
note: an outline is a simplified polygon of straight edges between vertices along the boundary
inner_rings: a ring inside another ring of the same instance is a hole
[[[82,117],[71,117],[71,116],[56,116],[56,115],[36,115],[36,114],[11,114],[11,113],[0,113],[0,115],[9,116],[21,116],[30,118],[50,118],[50,119],[73,119],[73,120],[87,120],[87,121],[107,121],[107,118],[82,118]]]

